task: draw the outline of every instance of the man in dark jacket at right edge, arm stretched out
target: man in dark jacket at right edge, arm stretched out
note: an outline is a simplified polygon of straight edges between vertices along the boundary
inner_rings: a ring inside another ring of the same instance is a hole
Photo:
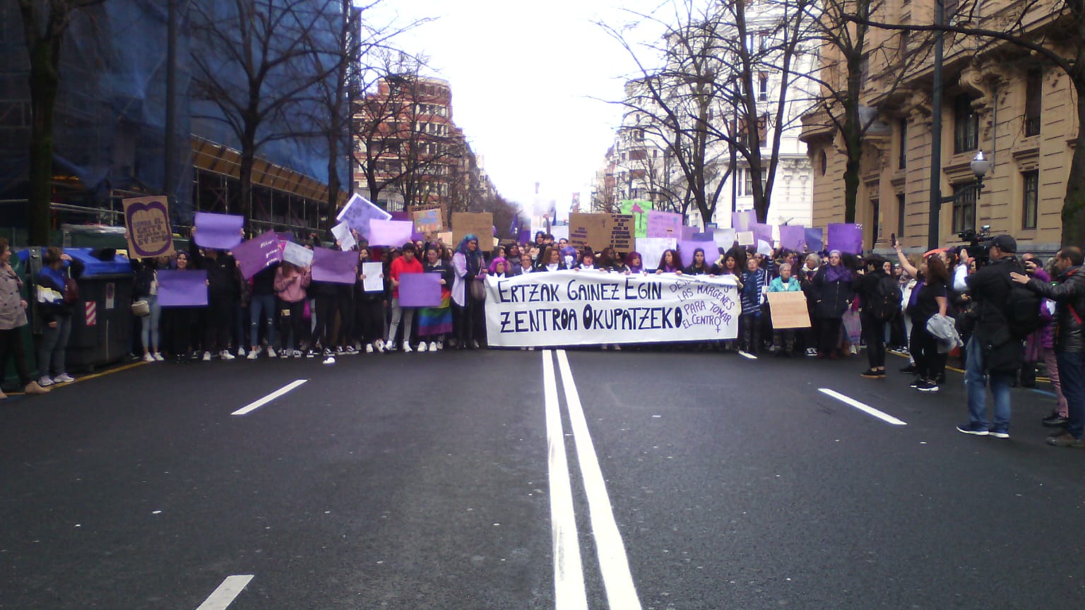
[[[1047,440],[1059,447],[1085,447],[1082,434],[1085,432],[1085,257],[1076,247],[1063,247],[1055,257],[1055,268],[1059,272],[1058,285],[1051,285],[1023,274],[1011,274],[1018,283],[1038,292],[1056,302],[1055,355],[1059,364],[1062,393],[1067,397],[1070,415],[1067,429]]]

